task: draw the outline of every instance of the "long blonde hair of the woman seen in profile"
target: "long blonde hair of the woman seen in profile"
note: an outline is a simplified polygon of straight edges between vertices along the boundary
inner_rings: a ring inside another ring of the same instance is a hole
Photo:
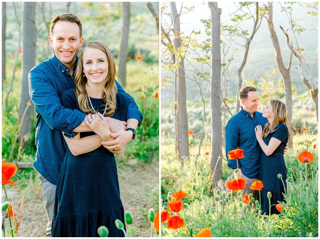
[[[264,138],[267,138],[270,133],[273,133],[274,131],[276,131],[278,128],[277,129],[275,128],[278,124],[283,123],[287,125],[287,112],[288,112],[287,106],[283,102],[278,100],[271,100],[270,104],[273,110],[273,116],[272,116],[273,121],[271,125],[269,122],[264,125],[264,128],[263,128]],[[288,130],[289,130],[289,127],[288,127]],[[290,140],[291,140],[291,133],[289,130],[288,141]]]

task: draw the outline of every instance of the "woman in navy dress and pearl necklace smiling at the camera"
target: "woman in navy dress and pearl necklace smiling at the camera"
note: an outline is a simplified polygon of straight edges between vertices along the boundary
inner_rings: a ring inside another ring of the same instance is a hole
[[[106,226],[109,237],[123,237],[115,220],[124,223],[114,153],[93,141],[111,140],[104,116],[125,121],[126,97],[117,93],[115,63],[108,47],[92,41],[82,50],[76,69],[76,88],[61,95],[61,104],[90,116],[94,132],[65,137],[65,155],[56,188],[53,237],[98,237],[97,229]],[[92,115],[91,115],[92,114]],[[87,116],[87,117],[88,117]],[[99,137],[98,137],[99,136]]]

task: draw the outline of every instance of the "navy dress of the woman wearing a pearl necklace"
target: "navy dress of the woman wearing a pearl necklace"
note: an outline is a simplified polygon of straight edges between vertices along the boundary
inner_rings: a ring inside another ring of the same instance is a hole
[[[74,89],[65,91],[60,100],[64,107],[81,111]],[[104,101],[94,98],[91,101],[93,107],[98,107],[102,114]],[[117,93],[116,110],[112,118],[125,121],[127,109],[126,98]],[[82,132],[80,137],[93,134]],[[124,237],[123,231],[116,228],[116,219],[124,223],[114,154],[103,146],[78,156],[68,149],[56,188],[52,236],[99,237],[98,228],[106,226],[109,237]]]

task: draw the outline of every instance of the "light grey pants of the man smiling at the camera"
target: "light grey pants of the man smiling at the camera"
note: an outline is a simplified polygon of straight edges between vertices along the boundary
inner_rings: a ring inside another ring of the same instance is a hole
[[[53,209],[54,209],[54,198],[56,194],[56,185],[53,185],[48,180],[46,180],[39,172],[38,178],[40,180],[40,186],[42,186],[42,194],[44,198],[44,208],[47,211],[48,224],[45,234],[48,237],[51,237],[51,226],[53,218]]]

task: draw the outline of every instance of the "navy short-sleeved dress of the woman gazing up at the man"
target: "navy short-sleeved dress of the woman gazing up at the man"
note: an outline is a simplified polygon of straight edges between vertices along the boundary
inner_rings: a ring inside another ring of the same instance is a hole
[[[269,198],[267,197],[268,192],[271,192],[271,205],[278,204],[279,202],[285,201],[284,196],[284,185],[287,190],[287,169],[284,163],[284,148],[288,143],[289,131],[288,127],[281,123],[276,126],[277,129],[273,133],[270,133],[267,138],[263,138],[266,145],[269,144],[270,139],[277,138],[281,140],[280,145],[276,150],[269,156],[262,151],[260,172],[258,179],[262,181],[263,188],[261,190],[261,210],[262,213],[269,215]],[[282,175],[284,185],[281,179],[278,178],[278,174]],[[259,196],[257,196],[259,197]],[[259,198],[258,198],[259,199]],[[276,206],[271,206],[271,214],[279,214]]]

